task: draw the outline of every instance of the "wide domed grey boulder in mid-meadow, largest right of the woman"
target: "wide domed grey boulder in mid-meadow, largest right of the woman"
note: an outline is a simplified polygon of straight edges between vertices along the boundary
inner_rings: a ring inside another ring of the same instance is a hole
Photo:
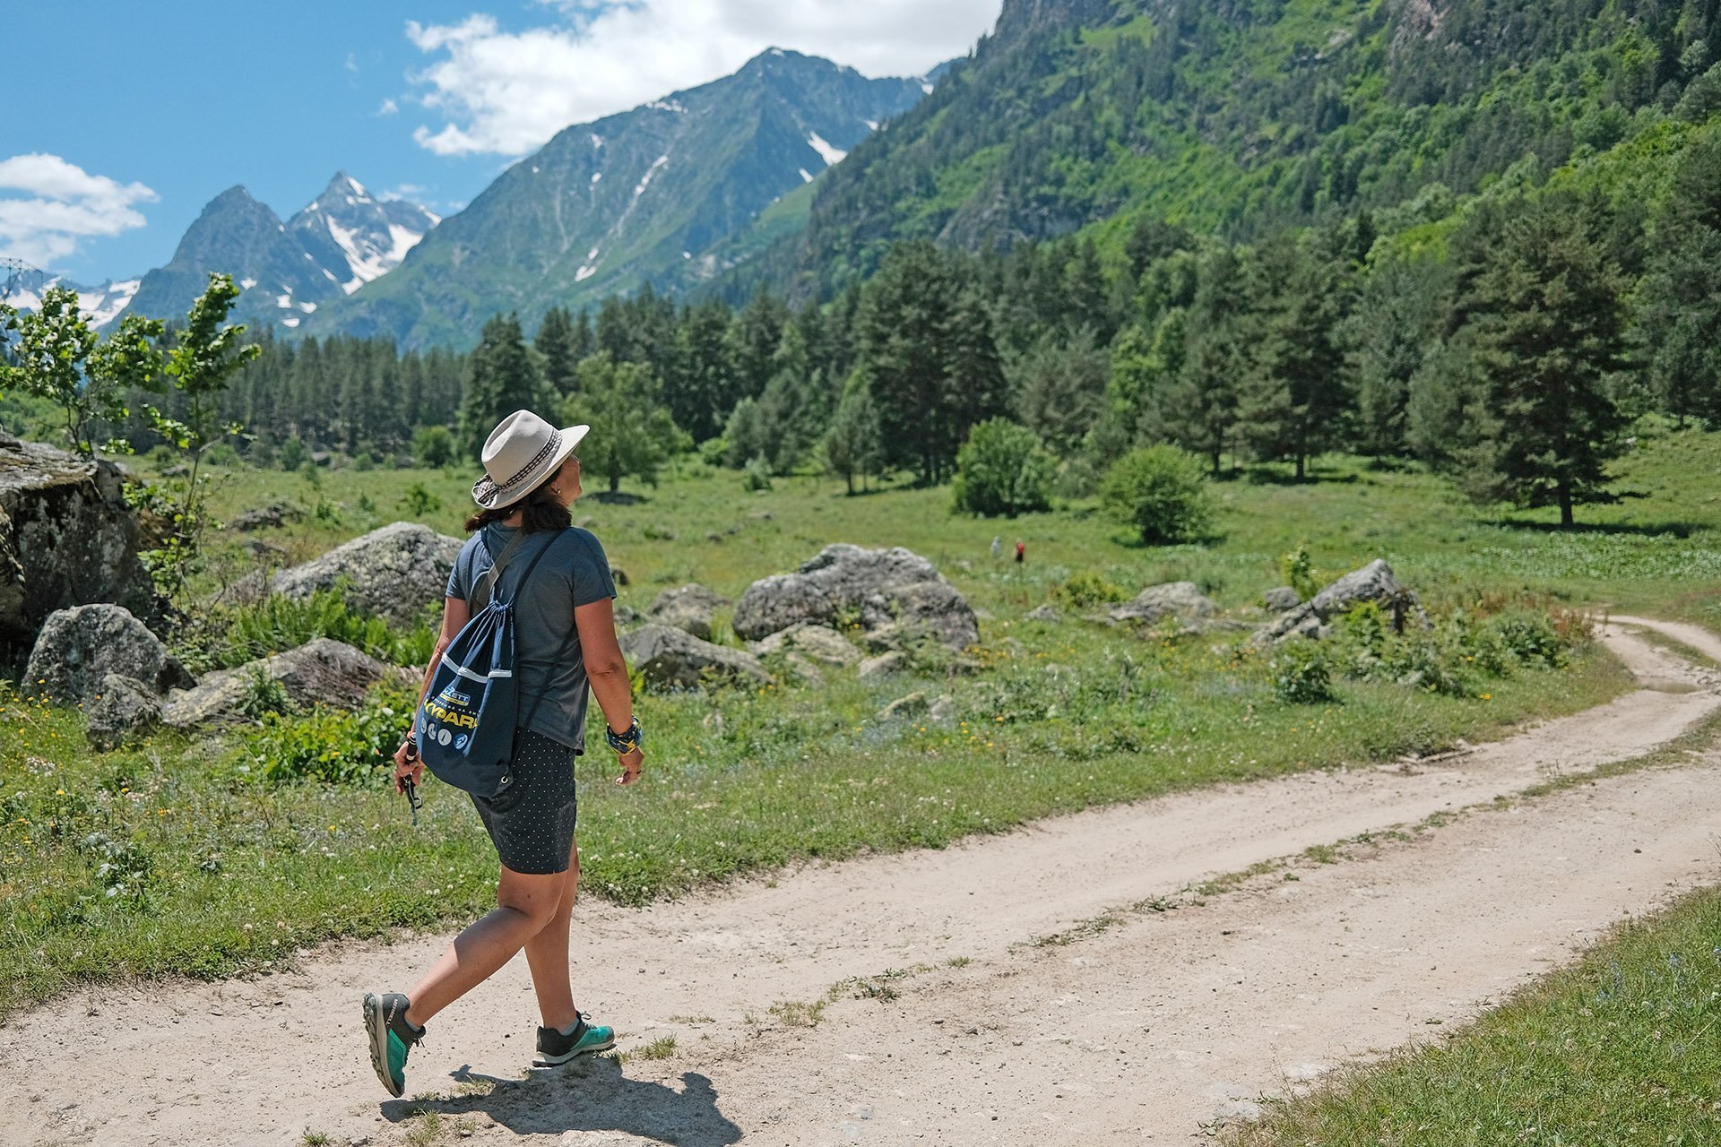
[[[955,586],[902,547],[826,545],[797,573],[747,586],[731,624],[737,635],[757,641],[800,623],[833,626],[845,610],[860,610],[869,629],[895,621],[952,648],[979,641],[979,621]]]

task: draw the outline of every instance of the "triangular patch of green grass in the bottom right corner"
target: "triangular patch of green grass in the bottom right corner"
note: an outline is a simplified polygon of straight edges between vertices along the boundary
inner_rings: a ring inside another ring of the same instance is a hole
[[[1621,925],[1446,1040],[1346,1070],[1232,1147],[1721,1140],[1721,891]]]

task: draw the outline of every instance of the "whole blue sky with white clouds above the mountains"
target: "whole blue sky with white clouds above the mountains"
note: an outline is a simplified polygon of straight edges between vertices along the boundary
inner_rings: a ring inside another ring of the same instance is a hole
[[[172,258],[234,184],[282,218],[337,170],[439,215],[568,124],[768,46],[867,76],[967,52],[1000,0],[9,3],[0,255],[77,282]]]

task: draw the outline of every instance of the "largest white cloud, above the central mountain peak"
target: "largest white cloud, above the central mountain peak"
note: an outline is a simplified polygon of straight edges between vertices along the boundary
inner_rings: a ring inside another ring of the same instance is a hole
[[[546,28],[503,31],[494,17],[406,24],[441,57],[413,76],[444,117],[413,139],[437,155],[523,155],[570,124],[625,112],[728,76],[776,45],[866,76],[916,76],[964,55],[1000,0],[540,0]]]

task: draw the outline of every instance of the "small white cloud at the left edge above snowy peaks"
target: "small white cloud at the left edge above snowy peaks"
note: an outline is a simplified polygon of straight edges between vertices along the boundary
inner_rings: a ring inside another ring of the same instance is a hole
[[[143,227],[136,203],[158,196],[143,184],[91,175],[57,155],[0,160],[0,255],[48,267],[86,239]]]

